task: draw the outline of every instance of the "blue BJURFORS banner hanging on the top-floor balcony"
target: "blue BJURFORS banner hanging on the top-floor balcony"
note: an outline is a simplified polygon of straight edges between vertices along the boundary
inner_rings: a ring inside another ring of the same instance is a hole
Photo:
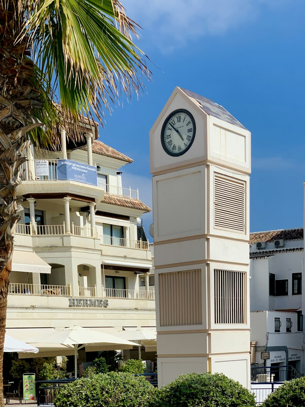
[[[71,160],[57,160],[57,179],[98,185],[96,167]]]

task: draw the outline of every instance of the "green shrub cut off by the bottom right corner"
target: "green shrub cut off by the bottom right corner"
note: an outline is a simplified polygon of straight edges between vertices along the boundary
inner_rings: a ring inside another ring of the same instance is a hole
[[[303,407],[305,406],[305,377],[285,382],[275,392],[269,394],[263,407]]]

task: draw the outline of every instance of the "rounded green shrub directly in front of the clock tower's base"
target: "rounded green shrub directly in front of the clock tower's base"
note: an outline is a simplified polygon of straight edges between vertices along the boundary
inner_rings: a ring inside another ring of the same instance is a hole
[[[189,373],[161,387],[152,407],[254,407],[255,398],[224,374]]]

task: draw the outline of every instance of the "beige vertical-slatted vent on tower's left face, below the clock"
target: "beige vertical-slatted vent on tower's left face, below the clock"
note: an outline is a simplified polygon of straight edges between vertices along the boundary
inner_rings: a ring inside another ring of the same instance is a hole
[[[202,324],[201,270],[159,274],[160,326]]]

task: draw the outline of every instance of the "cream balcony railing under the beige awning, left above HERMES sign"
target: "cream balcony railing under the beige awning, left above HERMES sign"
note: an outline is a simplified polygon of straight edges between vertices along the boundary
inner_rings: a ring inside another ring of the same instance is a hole
[[[9,283],[9,294],[71,295],[70,285]]]

